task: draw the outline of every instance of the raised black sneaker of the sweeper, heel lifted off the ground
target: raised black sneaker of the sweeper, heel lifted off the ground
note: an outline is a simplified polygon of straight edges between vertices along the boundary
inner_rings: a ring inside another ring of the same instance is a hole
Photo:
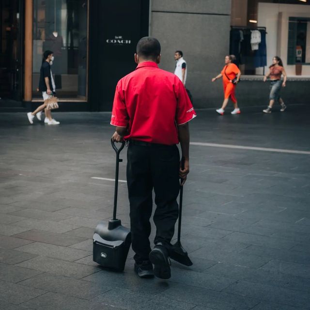
[[[170,259],[168,251],[161,245],[155,245],[149,255],[150,261],[154,264],[154,275],[160,279],[169,279],[171,277]]]

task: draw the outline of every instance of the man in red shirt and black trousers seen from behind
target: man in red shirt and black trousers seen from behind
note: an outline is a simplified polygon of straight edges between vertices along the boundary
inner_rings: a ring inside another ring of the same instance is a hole
[[[196,116],[181,80],[158,68],[160,44],[152,37],[137,45],[136,70],[122,78],[115,91],[112,140],[129,141],[127,186],[130,202],[135,271],[141,278],[171,277],[169,250],[178,218],[179,177],[189,172],[188,122]],[[176,144],[181,143],[185,167]],[[155,247],[151,250],[150,217],[155,192]],[[154,271],[153,271],[153,264]]]

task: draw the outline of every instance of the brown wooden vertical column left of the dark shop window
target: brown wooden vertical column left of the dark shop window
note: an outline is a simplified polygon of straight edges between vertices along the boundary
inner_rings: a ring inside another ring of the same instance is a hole
[[[33,0],[25,0],[25,101],[32,100],[32,22]]]

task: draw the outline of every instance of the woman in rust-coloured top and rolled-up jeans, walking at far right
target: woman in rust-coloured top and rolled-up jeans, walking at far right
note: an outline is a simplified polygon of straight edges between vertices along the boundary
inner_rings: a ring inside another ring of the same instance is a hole
[[[281,81],[282,74],[284,77],[283,82]],[[269,106],[267,109],[264,109],[263,112],[271,113],[271,109],[276,100],[279,101],[281,105],[280,111],[283,112],[286,109],[286,105],[280,97],[280,91],[281,86],[285,87],[286,85],[286,72],[283,68],[283,62],[280,57],[275,56],[272,59],[272,65],[269,67],[269,73],[263,77],[263,81],[265,82],[268,77],[270,78]]]

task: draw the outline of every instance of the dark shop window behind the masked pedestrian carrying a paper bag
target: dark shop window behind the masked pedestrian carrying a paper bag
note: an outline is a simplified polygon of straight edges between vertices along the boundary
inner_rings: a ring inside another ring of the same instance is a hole
[[[51,50],[51,71],[61,100],[87,100],[87,0],[33,1],[32,98],[37,92],[43,53]]]

